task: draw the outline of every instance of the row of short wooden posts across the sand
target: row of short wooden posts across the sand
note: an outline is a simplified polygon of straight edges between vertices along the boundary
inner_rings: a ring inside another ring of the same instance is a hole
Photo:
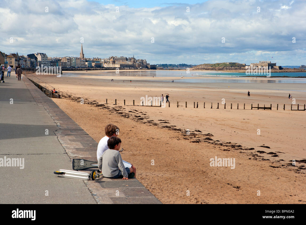
[[[124,105],[125,105],[125,99],[124,101]],[[99,104],[97,102],[97,104]],[[106,104],[107,104],[107,99],[106,99]],[[115,99],[115,105],[117,105],[117,99]],[[135,106],[135,100],[133,100],[133,106]],[[136,105],[136,106],[146,106],[144,105],[144,101],[142,102],[142,105]],[[162,107],[162,103],[160,102],[159,106],[153,106],[153,101],[151,101],[151,105],[149,105],[149,107]],[[168,102],[168,107],[170,107],[170,101]],[[193,108],[198,108],[199,107],[199,102],[193,102]],[[178,108],[178,102],[177,102],[177,108]],[[187,102],[185,102],[185,108],[187,108]],[[217,103],[217,109],[219,108],[219,103]],[[204,102],[204,109],[205,109],[205,102]],[[211,103],[211,109],[212,109],[212,103]],[[226,103],[224,103],[224,109],[226,109]],[[233,109],[233,103],[230,103],[230,109]],[[239,103],[237,103],[237,109],[239,109]],[[245,103],[243,104],[243,109],[245,109]],[[257,106],[253,106],[253,104],[251,104],[251,109],[263,109],[263,110],[272,110],[272,104],[270,104],[270,107],[266,107],[265,105],[263,105],[263,107],[259,107],[259,104],[257,104]],[[276,110],[278,110],[278,104],[276,107]],[[285,110],[285,104],[283,107],[283,110]],[[292,109],[292,104],[291,104],[291,110],[298,110],[298,111],[305,111],[305,104],[304,104],[304,109],[299,109],[299,104],[297,104],[297,109]]]

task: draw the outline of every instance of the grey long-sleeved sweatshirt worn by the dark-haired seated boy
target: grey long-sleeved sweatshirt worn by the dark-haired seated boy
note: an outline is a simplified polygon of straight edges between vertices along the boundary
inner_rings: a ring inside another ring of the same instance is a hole
[[[114,149],[107,149],[98,160],[98,167],[103,177],[114,177],[121,171],[123,177],[128,177],[120,152]]]

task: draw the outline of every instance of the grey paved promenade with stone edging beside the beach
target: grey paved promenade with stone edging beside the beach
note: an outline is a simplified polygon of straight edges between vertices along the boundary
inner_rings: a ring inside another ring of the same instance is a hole
[[[161,203],[135,178],[83,181],[53,174],[72,170],[72,158],[96,161],[98,143],[26,77],[17,81],[13,74],[4,80],[0,84],[1,204]],[[24,159],[24,164],[13,167],[9,161],[16,158]]]

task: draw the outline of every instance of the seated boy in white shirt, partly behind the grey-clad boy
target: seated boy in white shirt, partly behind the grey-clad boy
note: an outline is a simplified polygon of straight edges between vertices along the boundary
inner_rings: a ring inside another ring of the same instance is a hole
[[[119,134],[119,127],[114,124],[108,124],[105,127],[105,137],[103,137],[98,144],[97,148],[97,159],[102,156],[103,152],[105,152],[108,149],[107,141],[110,139],[110,137],[117,137]],[[134,173],[136,173],[136,168],[131,164],[123,160],[123,164],[125,167],[133,168]]]

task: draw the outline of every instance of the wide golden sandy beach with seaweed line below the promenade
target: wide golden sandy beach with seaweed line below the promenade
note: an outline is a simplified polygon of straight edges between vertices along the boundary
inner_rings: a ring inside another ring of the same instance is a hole
[[[290,111],[293,101],[288,99],[291,93],[296,101],[293,108],[297,104],[304,108],[306,84],[277,83],[282,78],[273,77],[257,78],[256,82],[253,78],[230,78],[249,81],[244,83],[184,77],[203,79],[185,83],[177,82],[179,77],[124,76],[122,72],[101,75],[91,71],[88,76],[78,71],[74,72],[80,74],[77,77],[34,75],[60,90],[62,98],[54,102],[95,141],[105,135],[106,124],[119,126],[118,137],[125,149],[122,158],[136,166],[137,178],[162,203],[306,202],[306,111]],[[140,98],[146,95],[167,93],[170,107],[132,106],[133,100],[140,105]],[[80,104],[80,99],[85,104]],[[86,104],[93,101],[99,106]],[[193,102],[198,102],[198,108],[193,108]],[[251,104],[272,104],[272,110],[251,110]],[[235,168],[210,166],[215,156],[235,158]],[[296,160],[295,166],[292,160]]]

